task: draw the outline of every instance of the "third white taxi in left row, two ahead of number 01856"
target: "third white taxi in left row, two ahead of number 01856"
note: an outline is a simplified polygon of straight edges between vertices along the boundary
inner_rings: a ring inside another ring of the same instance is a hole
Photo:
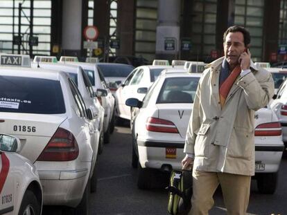
[[[82,67],[83,71],[89,77],[90,82],[94,88],[94,91],[105,90],[107,91],[106,96],[99,97],[101,104],[105,109],[105,119],[104,119],[104,142],[110,142],[110,133],[114,132],[114,118],[115,118],[115,100],[112,95],[107,82],[105,82],[105,77],[98,71],[95,64],[84,63],[84,62],[66,62],[66,64],[77,65]]]

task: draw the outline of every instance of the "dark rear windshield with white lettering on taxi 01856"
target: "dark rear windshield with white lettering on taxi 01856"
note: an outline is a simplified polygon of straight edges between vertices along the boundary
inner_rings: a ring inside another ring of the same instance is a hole
[[[0,112],[65,113],[59,81],[0,76]]]

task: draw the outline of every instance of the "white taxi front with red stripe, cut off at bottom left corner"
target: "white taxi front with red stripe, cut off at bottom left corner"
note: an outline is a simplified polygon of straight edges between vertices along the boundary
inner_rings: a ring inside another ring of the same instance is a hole
[[[39,175],[32,162],[17,153],[20,149],[19,138],[0,133],[0,214],[40,215]]]

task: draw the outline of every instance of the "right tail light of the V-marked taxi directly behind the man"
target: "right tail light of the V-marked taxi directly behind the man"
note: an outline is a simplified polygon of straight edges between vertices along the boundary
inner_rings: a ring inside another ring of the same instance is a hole
[[[268,122],[259,124],[254,132],[256,136],[279,136],[282,134],[280,122]]]

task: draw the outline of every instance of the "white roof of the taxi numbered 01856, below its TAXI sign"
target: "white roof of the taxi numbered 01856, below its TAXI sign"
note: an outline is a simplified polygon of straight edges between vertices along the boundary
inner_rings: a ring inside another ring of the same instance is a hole
[[[35,77],[47,80],[60,80],[60,76],[66,76],[62,71],[53,71],[44,68],[15,68],[15,67],[0,67],[1,75],[15,77]]]

